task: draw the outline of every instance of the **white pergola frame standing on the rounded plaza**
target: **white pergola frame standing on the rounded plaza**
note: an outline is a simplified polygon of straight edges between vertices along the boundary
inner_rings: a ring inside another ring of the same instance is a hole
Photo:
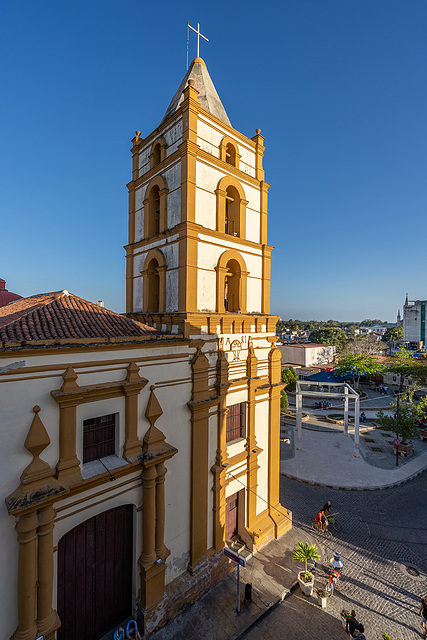
[[[319,387],[326,386],[329,389],[332,387],[336,391],[319,391]],[[313,387],[317,390],[313,390]],[[353,455],[359,457],[359,406],[360,398],[359,394],[350,387],[346,382],[315,382],[314,380],[298,380],[296,395],[295,395],[295,409],[296,409],[296,425],[297,425],[297,450],[301,451],[302,441],[302,397],[310,396],[313,398],[339,398],[344,400],[344,435],[348,436],[348,403],[350,400],[354,401],[354,453]]]

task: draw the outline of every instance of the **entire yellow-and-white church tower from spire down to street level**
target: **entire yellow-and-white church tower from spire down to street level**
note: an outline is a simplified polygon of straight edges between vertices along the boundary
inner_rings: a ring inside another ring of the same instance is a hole
[[[233,128],[197,57],[158,128],[132,142],[127,313],[198,345],[186,371],[193,573],[234,534],[254,550],[292,523],[279,502],[264,138]]]

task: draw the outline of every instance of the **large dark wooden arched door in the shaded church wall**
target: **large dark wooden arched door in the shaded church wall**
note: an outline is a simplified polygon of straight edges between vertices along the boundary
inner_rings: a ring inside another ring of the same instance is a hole
[[[59,541],[58,640],[98,640],[132,614],[133,511],[104,511]]]

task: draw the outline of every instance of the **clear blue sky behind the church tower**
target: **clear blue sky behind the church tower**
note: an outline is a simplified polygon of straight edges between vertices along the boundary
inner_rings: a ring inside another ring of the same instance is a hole
[[[3,3],[7,288],[124,310],[130,140],[185,74],[187,20],[233,126],[266,138],[272,312],[393,321],[425,299],[425,0]]]

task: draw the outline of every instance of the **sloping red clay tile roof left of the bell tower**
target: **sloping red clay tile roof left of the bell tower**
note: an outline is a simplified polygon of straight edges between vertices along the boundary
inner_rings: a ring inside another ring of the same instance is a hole
[[[68,291],[40,293],[0,307],[0,341],[22,342],[88,338],[129,339],[157,329],[109,311]],[[93,340],[92,340],[93,341]]]

